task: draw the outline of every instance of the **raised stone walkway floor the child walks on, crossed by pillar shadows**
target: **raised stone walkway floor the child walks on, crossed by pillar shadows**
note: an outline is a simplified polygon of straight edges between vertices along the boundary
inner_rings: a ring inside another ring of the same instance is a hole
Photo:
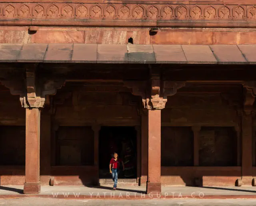
[[[119,186],[116,191],[112,185],[87,186],[41,186],[39,195],[24,195],[22,185],[0,186],[0,198],[15,197],[53,197],[53,198],[110,198],[110,199],[146,199],[159,198],[145,194],[145,186]],[[256,198],[256,187],[188,187],[162,186],[161,198]]]

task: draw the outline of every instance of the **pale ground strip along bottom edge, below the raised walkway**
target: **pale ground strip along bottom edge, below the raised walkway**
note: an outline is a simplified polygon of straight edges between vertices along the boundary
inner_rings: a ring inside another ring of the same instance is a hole
[[[159,200],[80,200],[52,198],[0,199],[0,206],[256,206],[255,199],[159,199]]]

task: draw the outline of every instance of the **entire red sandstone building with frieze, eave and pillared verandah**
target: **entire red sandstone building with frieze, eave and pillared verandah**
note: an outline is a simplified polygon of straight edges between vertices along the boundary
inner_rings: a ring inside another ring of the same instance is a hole
[[[254,0],[71,2],[0,2],[0,185],[256,184]]]

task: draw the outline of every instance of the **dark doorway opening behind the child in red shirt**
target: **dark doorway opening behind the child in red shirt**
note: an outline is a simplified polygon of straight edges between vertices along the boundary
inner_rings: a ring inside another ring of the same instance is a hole
[[[118,178],[136,178],[137,151],[134,127],[101,127],[99,137],[99,178],[111,178],[109,162],[114,152],[124,162]]]

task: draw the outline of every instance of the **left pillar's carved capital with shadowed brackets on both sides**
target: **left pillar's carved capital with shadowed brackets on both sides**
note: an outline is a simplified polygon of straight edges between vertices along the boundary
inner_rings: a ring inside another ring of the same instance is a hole
[[[41,108],[46,102],[46,95],[55,95],[57,89],[65,84],[65,79],[36,77],[37,64],[25,64],[19,73],[14,69],[4,70],[0,76],[2,85],[10,89],[12,95],[20,96],[24,108]]]

